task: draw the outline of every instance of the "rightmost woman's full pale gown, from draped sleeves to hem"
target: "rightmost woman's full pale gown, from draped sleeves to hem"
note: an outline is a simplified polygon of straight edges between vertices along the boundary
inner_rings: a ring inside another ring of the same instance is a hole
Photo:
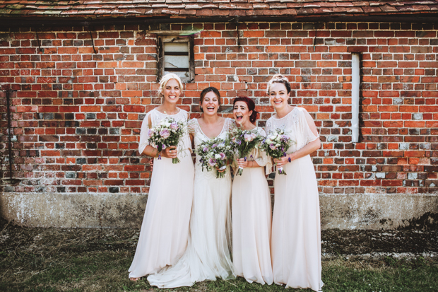
[[[283,129],[295,141],[288,153],[300,150],[315,136],[305,110],[295,107],[281,119],[271,117],[266,132]],[[276,284],[286,288],[321,290],[321,223],[319,194],[312,158],[309,155],[283,166],[287,175],[276,174],[272,222],[272,264]]]

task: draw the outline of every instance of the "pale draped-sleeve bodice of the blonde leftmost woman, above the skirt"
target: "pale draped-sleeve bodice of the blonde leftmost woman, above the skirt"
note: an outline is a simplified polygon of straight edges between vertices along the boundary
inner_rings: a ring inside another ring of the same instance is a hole
[[[146,114],[146,117],[143,119],[143,123],[141,124],[140,142],[138,142],[138,152],[143,153],[146,146],[149,145],[149,122],[148,122],[149,117],[150,117],[151,126],[155,127],[162,119],[165,119],[166,117],[172,117],[177,122],[182,121],[184,123],[187,123],[187,116],[188,116],[187,111],[182,109],[179,109],[179,112],[177,112],[174,115],[163,114],[162,112],[159,112],[158,110],[155,109],[148,112]],[[185,149],[189,149],[189,151],[191,151],[190,137],[187,129],[184,135],[182,136],[182,139],[179,140],[179,144],[177,148],[178,148],[178,152]]]

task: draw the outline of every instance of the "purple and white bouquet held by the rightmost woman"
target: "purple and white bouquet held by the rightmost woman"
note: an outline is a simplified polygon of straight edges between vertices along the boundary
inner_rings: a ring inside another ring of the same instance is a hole
[[[271,132],[266,136],[266,139],[261,142],[260,148],[266,151],[268,156],[272,158],[282,158],[286,156],[286,151],[288,151],[290,144],[292,144],[292,142],[289,136],[287,136],[282,129],[276,129],[275,132]],[[278,174],[286,175],[283,167],[278,168]]]

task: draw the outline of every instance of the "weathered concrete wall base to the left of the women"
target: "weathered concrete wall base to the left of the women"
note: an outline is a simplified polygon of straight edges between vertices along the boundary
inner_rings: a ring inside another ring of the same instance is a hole
[[[140,228],[144,194],[0,194],[0,216],[20,226]]]

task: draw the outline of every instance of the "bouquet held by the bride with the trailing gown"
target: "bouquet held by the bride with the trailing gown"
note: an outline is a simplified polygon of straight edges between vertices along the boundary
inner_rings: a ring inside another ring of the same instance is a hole
[[[225,170],[227,168],[227,160],[232,159],[234,151],[232,149],[230,140],[226,139],[210,139],[203,141],[198,148],[196,154],[200,157],[199,162],[207,171],[218,168],[218,170]],[[216,178],[225,177],[225,171],[220,173],[216,170]]]

